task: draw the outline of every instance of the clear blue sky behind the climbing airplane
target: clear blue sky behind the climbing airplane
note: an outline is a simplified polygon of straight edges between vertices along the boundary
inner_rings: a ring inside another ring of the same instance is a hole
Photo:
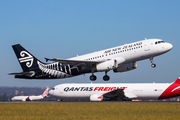
[[[57,80],[24,80],[7,75],[21,72],[11,48],[21,44],[38,59],[70,58],[144,38],[159,38],[173,49],[137,62],[136,70],[96,73],[94,83],[173,82],[180,76],[180,1],[173,0],[0,0],[0,86],[43,87],[61,83],[90,83],[90,74]]]

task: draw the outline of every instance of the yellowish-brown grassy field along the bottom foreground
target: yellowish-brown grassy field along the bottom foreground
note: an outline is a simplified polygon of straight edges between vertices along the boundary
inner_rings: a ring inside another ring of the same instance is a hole
[[[180,103],[0,103],[0,120],[180,120]]]

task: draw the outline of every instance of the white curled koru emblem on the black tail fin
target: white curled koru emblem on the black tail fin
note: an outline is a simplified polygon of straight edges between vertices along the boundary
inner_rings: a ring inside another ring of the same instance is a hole
[[[21,51],[20,56],[22,57],[22,58],[19,58],[20,63],[26,62],[26,66],[27,67],[31,67],[32,66],[33,60],[34,60],[33,56],[31,56],[26,51]]]

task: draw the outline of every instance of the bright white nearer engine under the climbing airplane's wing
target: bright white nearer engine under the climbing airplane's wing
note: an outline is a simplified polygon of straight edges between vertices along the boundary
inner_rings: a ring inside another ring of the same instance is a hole
[[[123,63],[125,59],[123,57],[111,59],[96,65],[96,70],[98,72],[112,70],[118,67],[119,64]]]

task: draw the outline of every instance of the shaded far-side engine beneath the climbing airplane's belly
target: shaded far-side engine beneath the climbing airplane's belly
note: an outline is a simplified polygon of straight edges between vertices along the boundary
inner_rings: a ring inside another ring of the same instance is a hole
[[[116,69],[114,69],[113,71],[116,72],[126,72],[126,71],[130,71],[130,70],[134,70],[137,68],[137,63],[136,62],[132,62],[129,64],[124,64]]]

